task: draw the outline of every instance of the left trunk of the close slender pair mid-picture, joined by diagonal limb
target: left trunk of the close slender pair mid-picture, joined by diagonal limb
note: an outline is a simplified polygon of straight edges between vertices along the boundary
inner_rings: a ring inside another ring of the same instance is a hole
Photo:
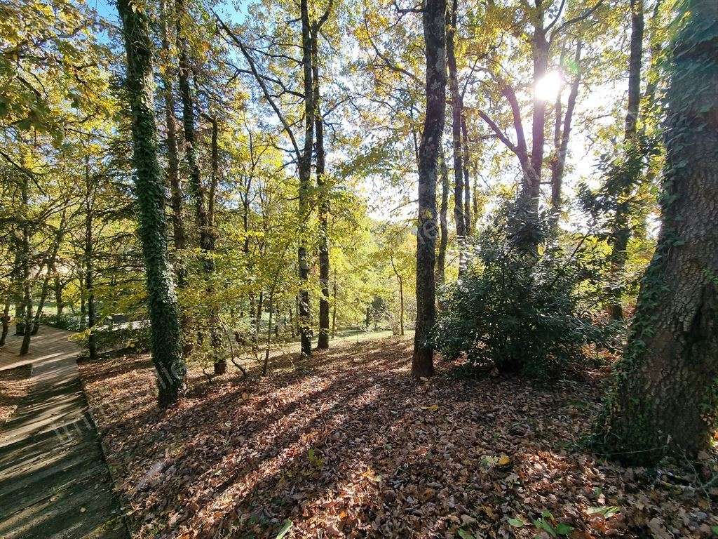
[[[309,198],[312,190],[312,147],[314,145],[314,83],[312,81],[312,29],[309,24],[308,0],[300,0],[299,9],[302,19],[302,72],[304,75],[304,149],[299,161],[299,247],[297,261],[299,263],[299,335],[301,337],[301,354],[312,356],[312,322],[309,310],[309,259],[307,257],[307,229],[309,220]]]

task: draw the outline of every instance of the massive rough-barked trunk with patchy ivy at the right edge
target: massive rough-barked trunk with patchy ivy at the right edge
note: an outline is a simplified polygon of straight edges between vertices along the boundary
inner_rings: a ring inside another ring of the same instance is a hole
[[[631,464],[709,446],[718,409],[718,3],[687,0],[665,126],[663,227],[597,423]]]

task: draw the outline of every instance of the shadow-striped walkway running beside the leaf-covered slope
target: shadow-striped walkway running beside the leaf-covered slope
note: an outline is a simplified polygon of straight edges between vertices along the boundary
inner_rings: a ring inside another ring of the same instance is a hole
[[[68,331],[42,326],[30,353],[9,336],[0,370],[32,364],[27,398],[0,429],[0,537],[125,539]]]

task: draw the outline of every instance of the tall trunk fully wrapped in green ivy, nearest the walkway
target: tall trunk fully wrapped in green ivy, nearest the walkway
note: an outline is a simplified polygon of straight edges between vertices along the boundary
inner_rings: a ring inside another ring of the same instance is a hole
[[[127,53],[127,96],[132,114],[134,167],[139,206],[139,232],[146,266],[147,303],[152,335],[152,361],[157,369],[159,405],[177,402],[185,382],[177,298],[167,255],[164,183],[157,161],[157,124],[154,116],[149,19],[118,0]]]

